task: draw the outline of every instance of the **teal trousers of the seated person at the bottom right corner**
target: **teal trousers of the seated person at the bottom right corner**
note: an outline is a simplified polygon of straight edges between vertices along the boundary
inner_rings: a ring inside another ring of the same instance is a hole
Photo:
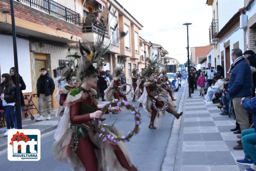
[[[256,163],[256,133],[255,129],[245,129],[242,131],[242,144],[244,154],[249,159],[252,159],[254,164]]]

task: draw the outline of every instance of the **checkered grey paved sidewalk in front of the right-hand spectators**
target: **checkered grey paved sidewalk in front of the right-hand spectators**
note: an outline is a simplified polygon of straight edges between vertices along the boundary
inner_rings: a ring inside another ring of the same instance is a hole
[[[222,116],[216,104],[205,104],[195,90],[188,98],[188,88],[179,128],[174,171],[244,171],[249,166],[235,161],[244,158],[237,145],[234,116]]]

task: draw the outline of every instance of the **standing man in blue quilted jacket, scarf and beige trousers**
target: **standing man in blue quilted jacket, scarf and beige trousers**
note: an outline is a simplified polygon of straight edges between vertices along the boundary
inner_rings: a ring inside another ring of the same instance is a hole
[[[237,122],[240,124],[241,131],[250,127],[249,117],[247,111],[241,105],[242,98],[250,98],[253,94],[252,91],[252,73],[248,61],[242,55],[241,49],[233,49],[231,57],[233,64],[228,70],[231,73],[228,82],[228,95],[233,101],[234,112]],[[233,147],[234,150],[243,149],[242,144]]]

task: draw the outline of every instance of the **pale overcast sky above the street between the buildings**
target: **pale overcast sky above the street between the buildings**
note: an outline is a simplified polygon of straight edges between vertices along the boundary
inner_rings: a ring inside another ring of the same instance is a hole
[[[189,47],[209,45],[209,27],[212,8],[206,0],[117,0],[140,24],[140,36],[160,44],[169,57],[180,63],[188,60],[187,27]],[[190,50],[189,50],[190,53]]]

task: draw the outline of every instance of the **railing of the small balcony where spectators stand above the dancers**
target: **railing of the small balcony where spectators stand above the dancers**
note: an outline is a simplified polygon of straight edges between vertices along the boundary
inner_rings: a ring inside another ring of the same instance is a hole
[[[105,34],[105,37],[109,37],[108,30],[107,28],[100,27],[97,24],[93,23],[88,23],[88,24],[83,24],[83,33],[96,33],[96,34]]]

